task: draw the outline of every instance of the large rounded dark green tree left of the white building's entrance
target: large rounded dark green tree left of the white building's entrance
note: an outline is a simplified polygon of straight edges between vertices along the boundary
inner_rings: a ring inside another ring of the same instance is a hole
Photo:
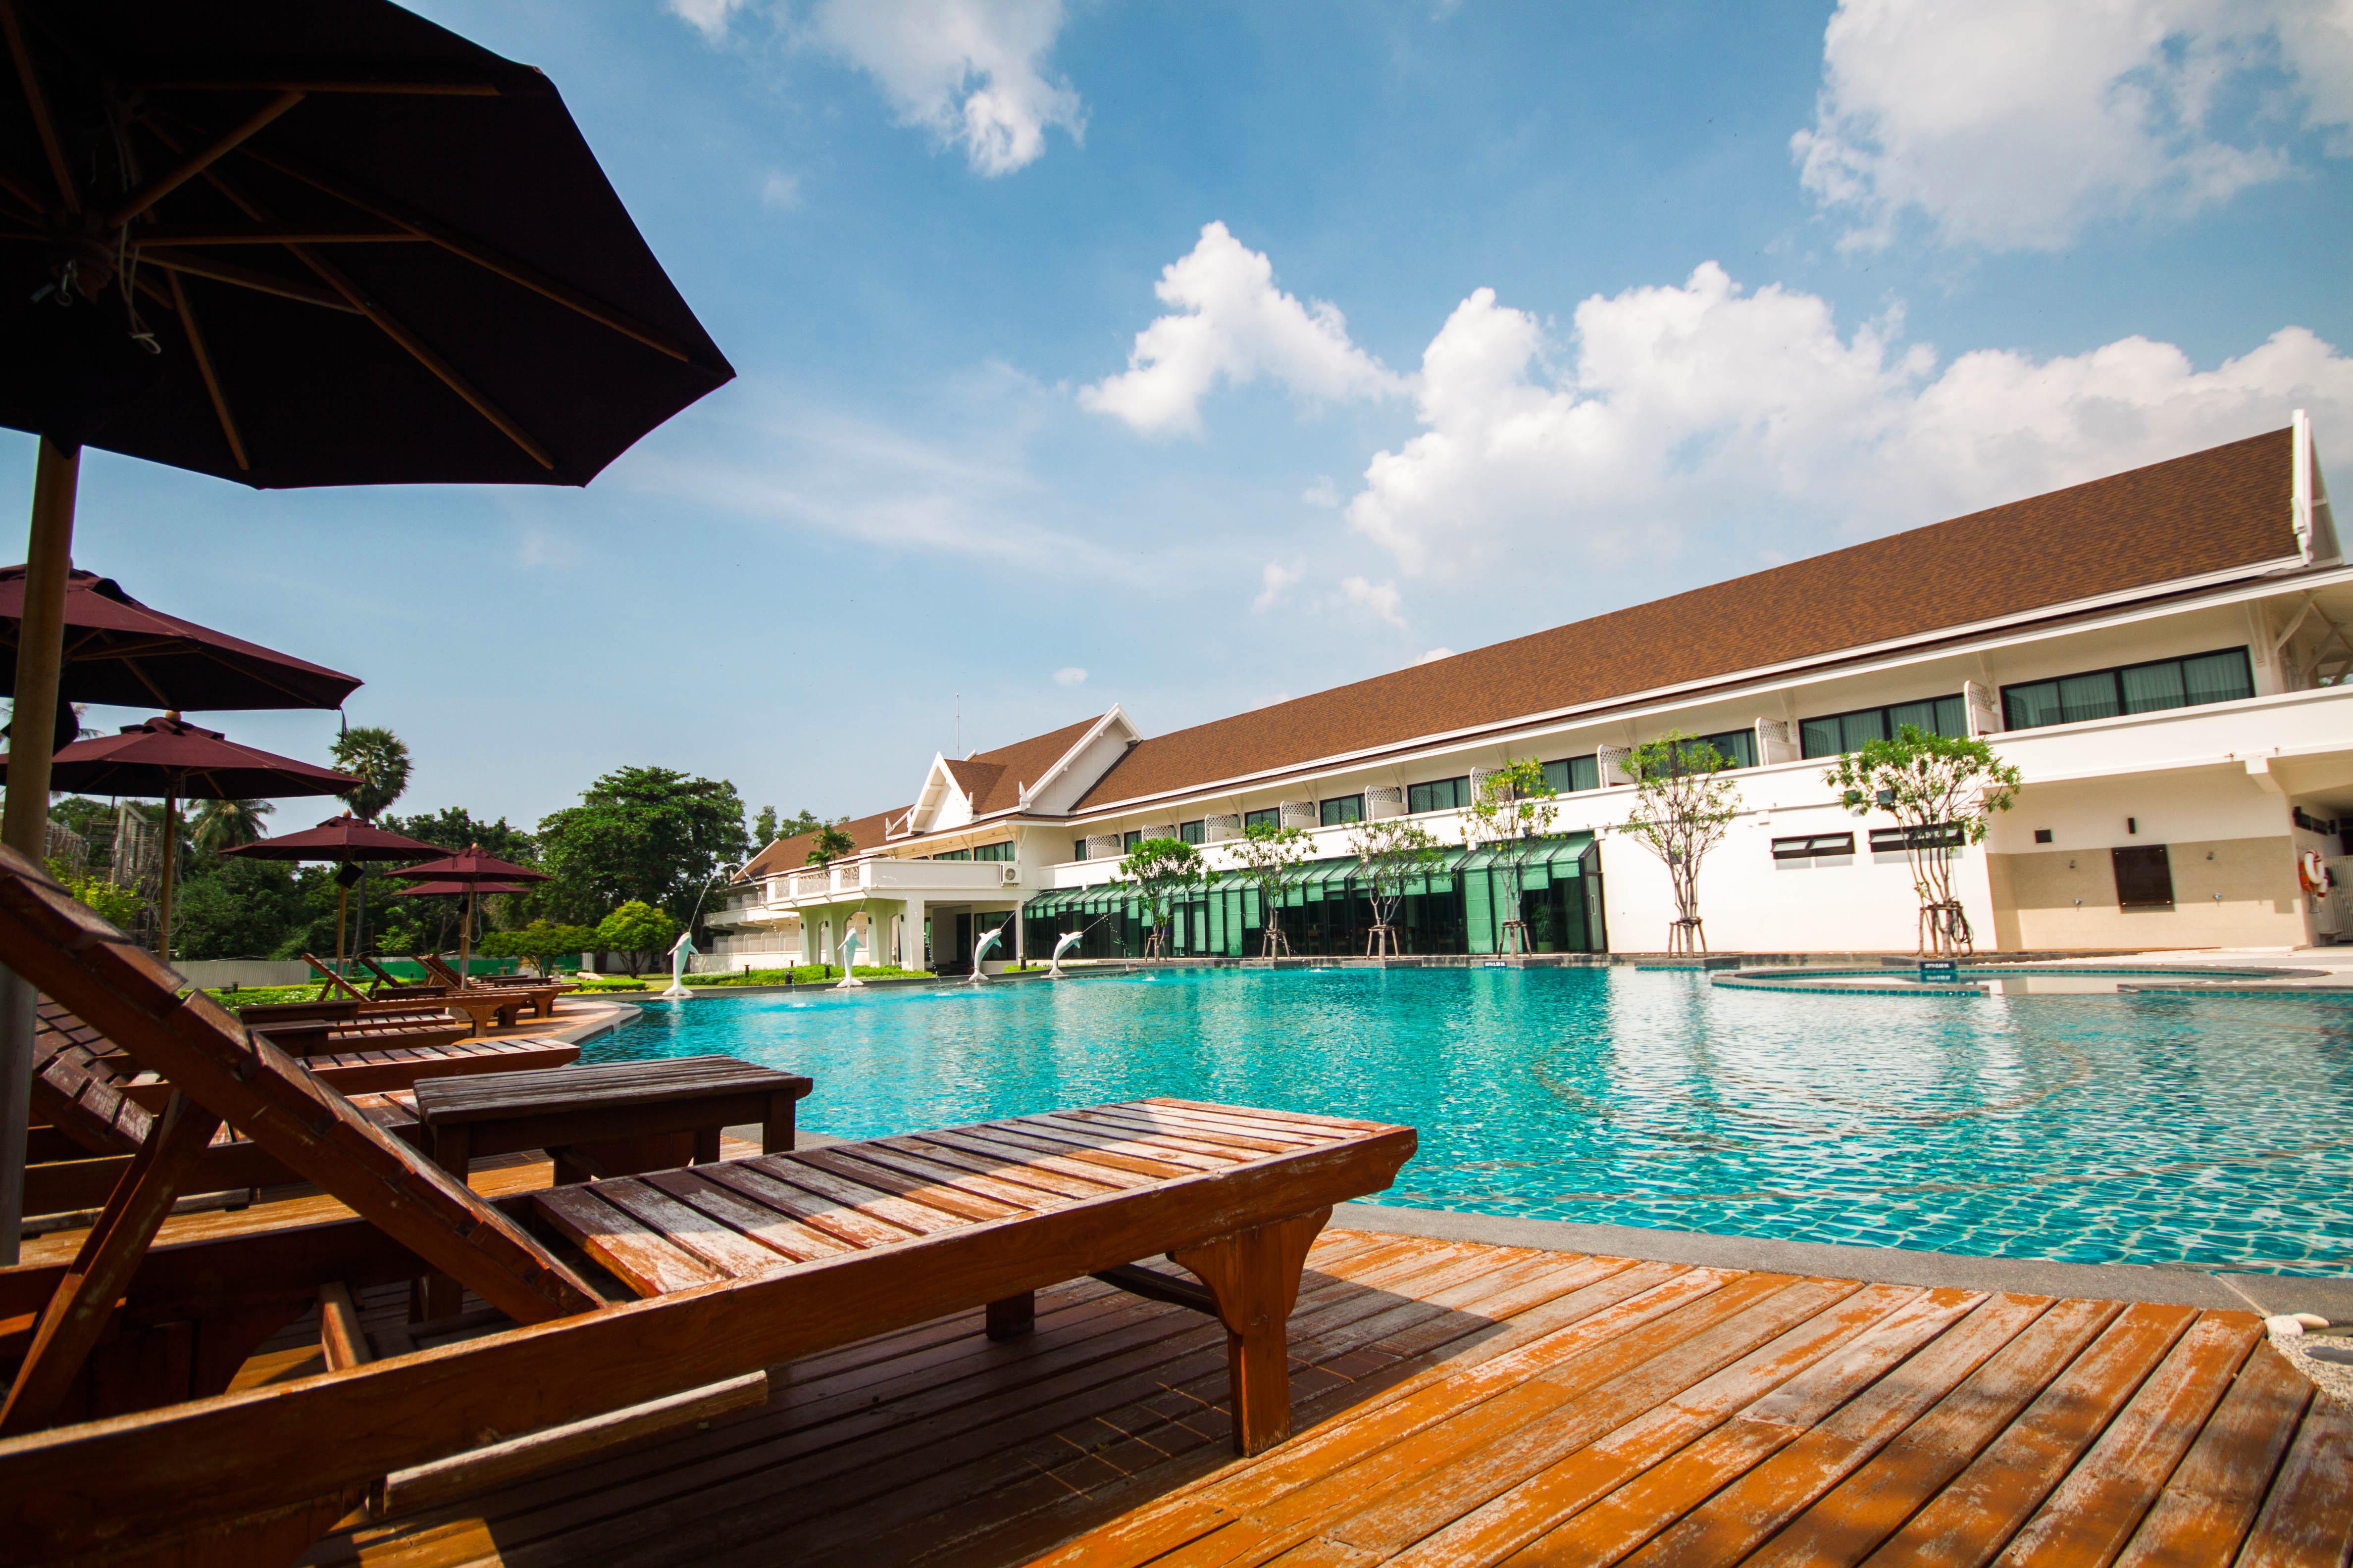
[[[631,766],[605,773],[539,823],[541,910],[586,919],[649,903],[687,919],[722,860],[744,858],[744,799],[720,778]]]

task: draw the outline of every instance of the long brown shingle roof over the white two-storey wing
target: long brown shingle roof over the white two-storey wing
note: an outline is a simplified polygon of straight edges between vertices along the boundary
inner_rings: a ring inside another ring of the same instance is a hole
[[[2292,557],[2289,433],[2151,463],[1129,748],[1078,809]]]

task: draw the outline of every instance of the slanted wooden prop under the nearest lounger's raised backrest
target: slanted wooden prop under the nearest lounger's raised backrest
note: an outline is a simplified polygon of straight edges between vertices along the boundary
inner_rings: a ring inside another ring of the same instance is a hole
[[[148,1126],[139,1154],[106,1199],[106,1211],[89,1227],[73,1267],[56,1281],[49,1307],[40,1314],[33,1345],[16,1368],[16,1385],[0,1406],[0,1434],[14,1436],[40,1427],[73,1387],[89,1347],[106,1331],[106,1319],[122,1298],[122,1286],[146,1255],[162,1222],[172,1218],[172,1199],[181,1178],[202,1157],[221,1119],[181,1093]]]

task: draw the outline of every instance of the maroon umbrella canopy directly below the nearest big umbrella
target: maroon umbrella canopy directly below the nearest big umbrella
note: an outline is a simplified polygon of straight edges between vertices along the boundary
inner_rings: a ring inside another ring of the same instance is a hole
[[[0,567],[0,696],[16,693],[24,567]],[[360,677],[148,609],[113,578],[66,581],[64,703],[118,708],[341,708]]]

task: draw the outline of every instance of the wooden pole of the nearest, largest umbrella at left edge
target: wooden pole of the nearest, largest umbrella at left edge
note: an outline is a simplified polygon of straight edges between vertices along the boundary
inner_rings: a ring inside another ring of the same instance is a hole
[[[73,569],[73,491],[80,451],[47,435],[33,468],[33,527],[24,550],[16,630],[16,712],[0,842],[42,863],[49,849],[49,752],[56,677],[66,663],[66,574]],[[0,1265],[16,1262],[24,1229],[24,1135],[33,1110],[33,985],[0,969]]]

